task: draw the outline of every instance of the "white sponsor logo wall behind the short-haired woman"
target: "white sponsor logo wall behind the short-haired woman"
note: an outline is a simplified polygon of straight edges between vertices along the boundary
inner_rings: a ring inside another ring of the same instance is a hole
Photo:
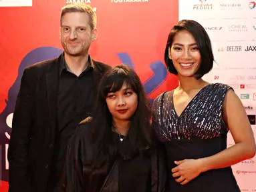
[[[226,83],[241,99],[256,134],[256,1],[179,0],[178,19],[194,19],[212,41],[215,63],[203,79]],[[234,144],[231,133],[227,146]],[[241,191],[256,191],[256,157],[233,165]]]

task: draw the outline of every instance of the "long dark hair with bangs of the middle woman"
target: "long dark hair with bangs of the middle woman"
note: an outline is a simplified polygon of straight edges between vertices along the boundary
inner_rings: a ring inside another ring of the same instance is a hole
[[[134,155],[151,149],[151,111],[140,78],[130,67],[117,65],[102,77],[96,107],[92,113],[92,143],[98,150],[95,159],[97,165],[117,150],[112,139],[112,114],[108,110],[106,97],[108,93],[120,90],[124,83],[136,93],[138,107],[130,119],[130,129],[120,147],[120,155],[124,159],[131,159]]]

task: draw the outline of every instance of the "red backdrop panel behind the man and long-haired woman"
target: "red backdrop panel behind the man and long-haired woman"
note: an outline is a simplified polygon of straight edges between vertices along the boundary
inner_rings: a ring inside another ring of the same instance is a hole
[[[38,47],[62,49],[59,15],[63,5],[66,0],[33,0],[32,7],[0,7],[0,145],[3,149],[0,179],[4,181],[8,180],[5,145],[9,141],[5,132],[11,133],[11,128],[6,126],[8,114],[5,111],[7,105],[11,106],[8,111],[13,110],[15,102],[9,98],[17,94],[16,89],[11,91],[10,88],[16,81],[19,83],[18,69],[27,53]],[[177,86],[176,77],[166,73],[162,66],[168,33],[178,21],[178,0],[146,3],[91,0],[91,5],[96,7],[100,31],[98,40],[92,43],[94,59],[110,65],[123,62],[133,67],[144,82],[149,99]],[[0,185],[0,191],[7,191],[4,184]]]

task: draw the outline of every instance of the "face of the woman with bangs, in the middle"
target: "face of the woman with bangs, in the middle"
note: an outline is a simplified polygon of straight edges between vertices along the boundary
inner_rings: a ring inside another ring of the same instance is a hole
[[[138,95],[126,83],[106,97],[108,109],[114,121],[129,121],[138,106]]]

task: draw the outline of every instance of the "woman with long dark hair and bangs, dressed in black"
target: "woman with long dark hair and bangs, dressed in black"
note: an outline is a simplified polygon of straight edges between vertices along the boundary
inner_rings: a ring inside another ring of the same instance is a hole
[[[166,169],[158,164],[165,163],[154,150],[150,115],[138,75],[126,65],[108,71],[92,118],[70,140],[57,191],[164,191]]]

